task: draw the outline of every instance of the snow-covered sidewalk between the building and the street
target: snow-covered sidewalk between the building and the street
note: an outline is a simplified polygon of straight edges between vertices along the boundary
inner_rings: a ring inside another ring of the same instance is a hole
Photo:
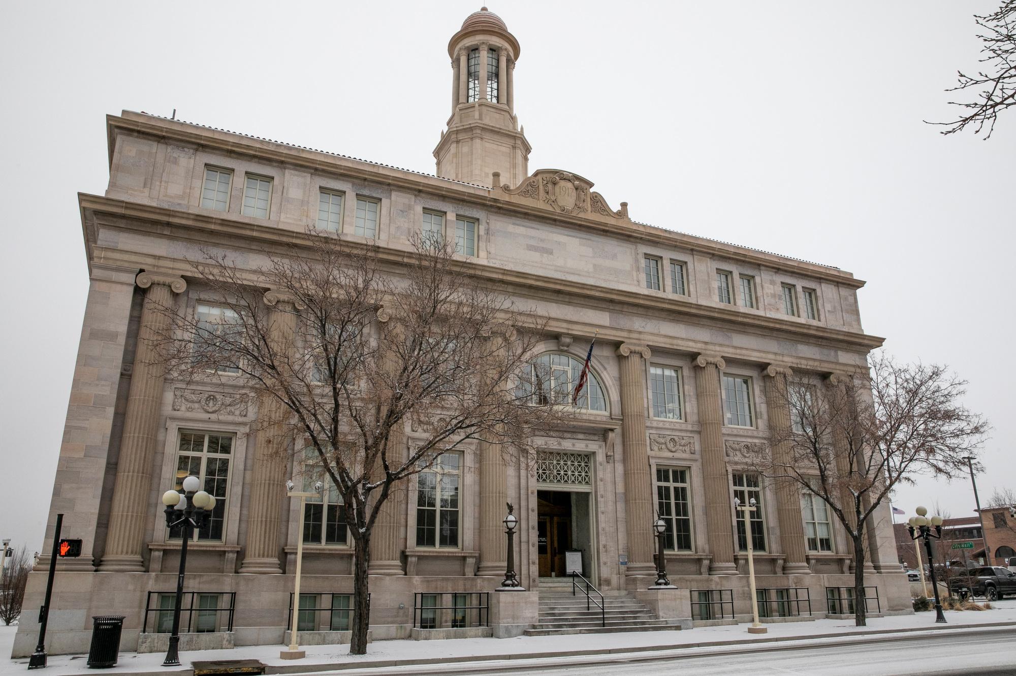
[[[457,638],[451,640],[383,640],[371,644],[368,654],[352,656],[346,646],[308,646],[302,660],[280,660],[282,646],[245,646],[229,651],[200,651],[181,654],[183,667],[190,670],[193,661],[258,660],[277,673],[278,667],[300,670],[301,667],[320,670],[321,665],[332,669],[388,667],[408,664],[444,664],[485,660],[537,659],[555,656],[604,655],[669,651],[723,646],[745,646],[765,641],[816,640],[832,637],[861,637],[894,631],[949,629],[960,626],[1012,624],[1016,626],[1016,600],[995,602],[987,611],[946,611],[947,624],[936,624],[934,612],[913,615],[879,617],[868,620],[867,627],[853,626],[853,620],[818,619],[811,622],[767,624],[765,634],[750,634],[747,624],[699,627],[684,631],[643,631],[631,633],[587,633],[566,636],[518,636],[515,638]],[[16,627],[0,626],[0,655],[10,655]],[[51,656],[46,674],[96,673],[85,666],[86,655]],[[121,653],[116,667],[108,673],[128,674],[167,672],[162,666],[162,654],[137,655]],[[23,673],[27,659],[0,661],[0,674]]]

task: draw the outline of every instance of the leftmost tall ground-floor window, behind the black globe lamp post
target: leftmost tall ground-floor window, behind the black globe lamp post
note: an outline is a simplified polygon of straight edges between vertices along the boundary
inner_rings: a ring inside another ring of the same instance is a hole
[[[184,492],[183,481],[188,476],[201,480],[201,489],[215,498],[208,525],[197,532],[198,540],[223,539],[226,525],[226,498],[230,491],[230,463],[233,460],[232,434],[219,432],[181,431],[177,446],[177,473],[173,489]],[[170,538],[180,539],[183,529],[170,530]]]

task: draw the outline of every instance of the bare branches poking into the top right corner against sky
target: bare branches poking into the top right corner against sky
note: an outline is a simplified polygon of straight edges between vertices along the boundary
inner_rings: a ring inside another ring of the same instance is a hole
[[[973,76],[957,71],[958,84],[946,91],[980,90],[973,100],[949,102],[962,110],[958,119],[929,124],[945,126],[943,134],[955,134],[968,125],[973,125],[973,133],[979,134],[988,125],[987,141],[995,131],[999,113],[1016,106],[1016,0],[1006,0],[998,11],[983,16],[974,14],[973,18],[981,30],[977,38],[983,43],[980,51],[985,57],[979,63],[987,66]]]

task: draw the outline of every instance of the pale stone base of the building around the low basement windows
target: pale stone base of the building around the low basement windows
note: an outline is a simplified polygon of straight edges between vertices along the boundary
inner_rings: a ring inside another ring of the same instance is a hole
[[[408,577],[384,576],[371,579],[371,636],[374,640],[392,638],[451,637],[469,631],[449,629],[415,628],[415,594],[425,593],[486,593],[488,610],[486,618],[477,627],[483,629],[478,635],[510,637],[520,635],[538,621],[539,591],[538,581],[527,581],[526,591],[496,591],[499,578],[478,578],[468,576]],[[648,606],[660,619],[675,627],[691,629],[693,626],[726,624],[736,621],[750,621],[751,593],[747,576],[671,576],[674,589],[649,589],[654,577],[628,577],[625,587],[641,603]],[[236,604],[233,614],[232,631],[221,627],[218,631],[193,633],[195,641],[210,641],[212,635],[229,634],[235,646],[287,646],[285,626],[289,623],[290,595],[293,591],[293,577],[289,574],[242,574],[220,572],[188,573],[185,590],[201,593],[235,593]],[[811,617],[829,615],[831,608],[827,601],[827,588],[852,588],[853,577],[843,573],[827,574],[760,574],[756,578],[759,589],[807,589],[811,605]],[[879,609],[870,608],[869,616],[912,613],[910,585],[901,572],[866,576],[866,586],[878,590]],[[169,572],[83,572],[58,571],[53,591],[49,628],[47,630],[47,651],[51,655],[81,654],[88,651],[91,640],[91,617],[94,615],[124,615],[124,630],[121,651],[136,651],[145,641],[168,638],[167,634],[146,633],[154,629],[156,617],[151,608],[156,604],[148,599],[148,592],[169,593],[176,588],[176,576]],[[733,617],[707,618],[701,615],[701,607],[694,605],[696,592],[728,590],[723,597],[729,599],[724,613]],[[352,594],[352,576],[303,576],[301,591],[305,594]],[[14,639],[11,657],[23,658],[35,650],[39,635],[38,613],[35,609],[42,605],[46,592],[46,574],[33,572],[25,591],[21,624]],[[145,604],[149,613],[145,620]],[[802,611],[806,610],[802,607]],[[698,613],[698,614],[697,614]],[[322,613],[326,615],[327,613]],[[775,613],[773,613],[775,614]],[[225,618],[226,613],[221,613]],[[846,615],[850,617],[850,615]],[[197,611],[195,619],[197,621]],[[766,621],[770,618],[765,618]],[[771,618],[773,621],[791,621],[797,618]],[[485,621],[486,620],[486,621]],[[442,621],[442,624],[446,622]],[[475,621],[471,621],[475,623]],[[183,626],[186,632],[186,624]],[[348,643],[347,632],[309,631],[300,632],[301,645]],[[186,640],[186,639],[185,639]],[[221,640],[221,638],[215,638]],[[181,650],[200,650],[184,648]],[[210,646],[221,648],[220,645]],[[160,649],[162,650],[162,649]]]

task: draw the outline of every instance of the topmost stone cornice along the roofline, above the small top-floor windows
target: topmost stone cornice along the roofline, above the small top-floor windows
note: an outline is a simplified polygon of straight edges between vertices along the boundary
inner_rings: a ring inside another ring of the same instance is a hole
[[[500,106],[490,104],[491,106]],[[277,141],[258,139],[243,134],[210,129],[185,122],[164,120],[157,117],[125,111],[123,117],[106,118],[109,160],[112,167],[118,131],[140,134],[156,140],[204,146],[224,154],[247,154],[262,160],[275,161],[310,172],[327,172],[345,178],[371,181],[410,193],[430,192],[449,200],[471,202],[485,208],[530,216],[536,220],[551,221],[557,225],[579,227],[583,232],[594,231],[615,239],[634,240],[645,244],[680,248],[706,256],[733,258],[754,265],[785,270],[817,279],[861,288],[865,282],[847,272],[828,266],[755,251],[738,245],[724,244],[705,238],[636,223],[628,218],[617,220],[597,214],[565,214],[548,211],[537,203],[513,198],[503,191],[494,191],[475,184],[452,181],[419,174],[407,170],[386,166],[375,162],[343,157],[320,150],[312,150]],[[500,129],[500,128],[499,128]],[[506,132],[506,130],[501,130]],[[521,132],[519,132],[521,134]]]

